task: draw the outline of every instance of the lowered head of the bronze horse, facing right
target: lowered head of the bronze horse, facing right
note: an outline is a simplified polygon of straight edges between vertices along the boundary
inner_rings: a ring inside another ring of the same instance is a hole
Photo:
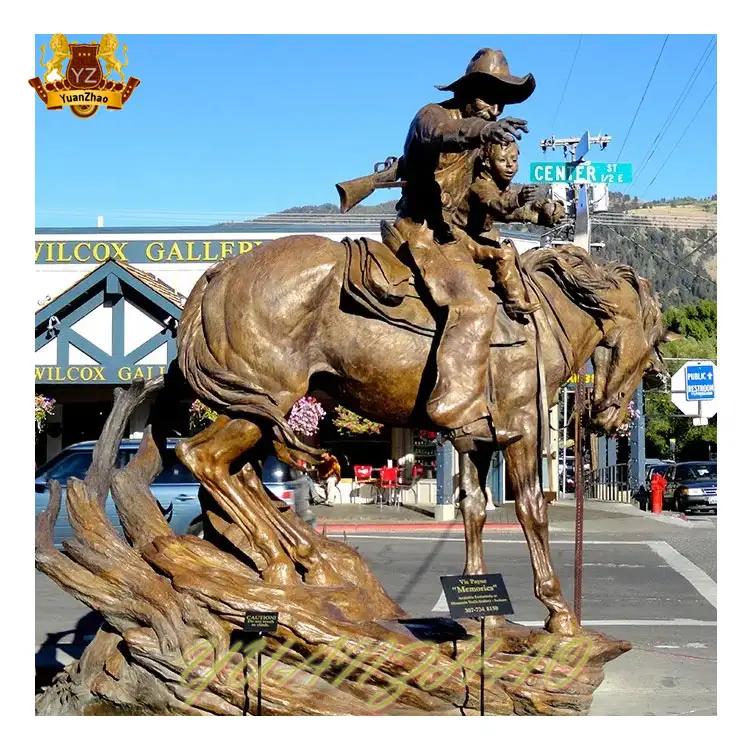
[[[615,311],[605,324],[605,336],[592,356],[591,426],[605,433],[614,432],[628,420],[628,404],[641,379],[669,377],[659,345],[678,337],[665,331],[659,303],[648,282],[631,269],[621,266],[619,270],[630,283],[621,285]]]

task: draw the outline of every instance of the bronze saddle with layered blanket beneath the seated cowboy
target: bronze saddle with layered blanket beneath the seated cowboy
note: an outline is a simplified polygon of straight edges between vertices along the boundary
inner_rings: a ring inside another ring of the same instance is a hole
[[[398,233],[387,222],[381,229],[391,247],[366,237],[342,240],[346,248],[343,292],[372,317],[433,338],[435,318],[417,294],[412,270],[396,256],[400,249]],[[524,327],[498,304],[492,346],[513,346],[526,340]]]

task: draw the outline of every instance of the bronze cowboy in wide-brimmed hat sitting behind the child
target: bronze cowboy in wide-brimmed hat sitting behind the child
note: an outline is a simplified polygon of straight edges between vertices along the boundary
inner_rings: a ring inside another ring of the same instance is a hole
[[[521,437],[500,428],[486,398],[500,299],[490,291],[494,283],[489,273],[474,261],[476,248],[457,225],[456,209],[467,199],[482,148],[528,132],[525,120],[496,118],[507,104],[528,99],[535,86],[531,74],[511,75],[501,51],[480,50],[465,75],[437,87],[451,91],[452,98],[417,113],[399,160],[405,185],[394,228],[408,243],[433,302],[447,311],[427,414],[449,431],[459,452],[476,449],[476,441],[502,449]],[[532,312],[535,306],[526,300],[520,278],[514,284],[512,277],[502,290],[506,308],[515,314]]]

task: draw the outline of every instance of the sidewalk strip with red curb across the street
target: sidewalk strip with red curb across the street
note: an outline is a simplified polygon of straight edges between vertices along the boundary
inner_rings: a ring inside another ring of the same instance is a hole
[[[434,505],[404,503],[399,506],[374,504],[314,505],[316,528],[328,533],[360,531],[456,531],[463,532],[463,519],[456,510],[453,521],[436,521]],[[575,498],[562,498],[549,506],[550,524],[575,522]],[[654,515],[629,503],[607,503],[600,500],[584,501],[584,518],[588,521],[614,521],[630,516],[642,520],[690,526],[680,514],[664,512]],[[487,511],[486,531],[509,531],[521,528],[513,503]]]

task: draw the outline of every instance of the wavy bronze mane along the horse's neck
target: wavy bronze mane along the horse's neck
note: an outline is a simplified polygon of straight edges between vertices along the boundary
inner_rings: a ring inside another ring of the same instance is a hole
[[[546,274],[576,305],[596,318],[612,317],[617,312],[616,303],[601,293],[619,289],[623,282],[638,294],[645,330],[654,328],[660,318],[659,303],[651,285],[624,263],[595,263],[576,245],[539,247],[523,253],[520,259],[524,271],[530,275]]]

